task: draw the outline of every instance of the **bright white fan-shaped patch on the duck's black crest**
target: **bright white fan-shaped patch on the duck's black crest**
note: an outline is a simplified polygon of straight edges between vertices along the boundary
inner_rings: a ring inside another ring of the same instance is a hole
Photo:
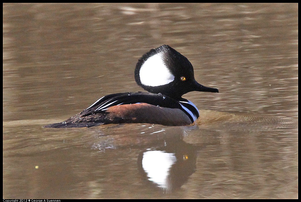
[[[164,64],[162,53],[149,57],[141,66],[139,74],[141,83],[146,86],[162,86],[175,79]]]

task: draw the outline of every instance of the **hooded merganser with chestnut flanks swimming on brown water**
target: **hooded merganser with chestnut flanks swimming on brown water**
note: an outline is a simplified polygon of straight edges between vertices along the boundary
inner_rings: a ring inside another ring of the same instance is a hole
[[[138,60],[135,80],[148,92],[106,95],[74,117],[44,127],[82,128],[110,123],[190,125],[199,117],[199,110],[182,95],[191,91],[219,92],[197,83],[189,60],[168,45],[151,49]]]

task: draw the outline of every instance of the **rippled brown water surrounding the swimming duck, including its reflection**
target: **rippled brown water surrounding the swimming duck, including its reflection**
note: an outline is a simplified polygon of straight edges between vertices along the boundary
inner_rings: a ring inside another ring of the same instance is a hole
[[[297,198],[297,4],[4,4],[3,198]],[[168,44],[193,126],[54,129]]]

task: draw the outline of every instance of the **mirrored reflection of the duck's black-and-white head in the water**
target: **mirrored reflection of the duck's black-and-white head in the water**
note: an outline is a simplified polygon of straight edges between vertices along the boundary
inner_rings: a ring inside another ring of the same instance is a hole
[[[181,187],[195,172],[197,151],[203,146],[185,143],[180,138],[161,142],[138,157],[138,169],[151,184],[171,191]]]

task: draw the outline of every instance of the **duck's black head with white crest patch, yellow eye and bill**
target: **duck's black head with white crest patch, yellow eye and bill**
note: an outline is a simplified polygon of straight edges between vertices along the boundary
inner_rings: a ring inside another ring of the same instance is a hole
[[[219,92],[197,83],[189,60],[168,45],[151,49],[138,60],[135,80],[148,92],[175,99],[191,91]]]

